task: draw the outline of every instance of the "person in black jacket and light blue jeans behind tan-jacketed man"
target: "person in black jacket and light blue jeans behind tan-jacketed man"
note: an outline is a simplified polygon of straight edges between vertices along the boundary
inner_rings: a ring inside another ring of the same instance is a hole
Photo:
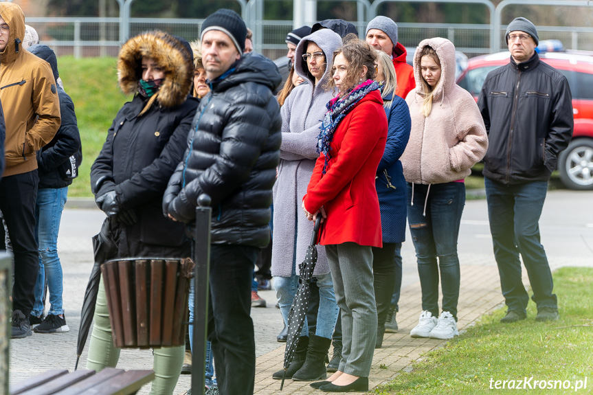
[[[50,47],[37,44],[27,50],[49,63],[54,78],[58,80],[58,60]],[[37,151],[39,185],[35,204],[35,234],[39,243],[39,271],[35,285],[35,304],[29,321],[32,326],[37,325],[34,332],[38,333],[69,330],[62,304],[62,266],[57,242],[68,185],[78,175],[82,150],[74,103],[59,85],[58,98],[62,123],[52,141]],[[44,319],[43,293],[46,283],[49,289],[49,311]]]

